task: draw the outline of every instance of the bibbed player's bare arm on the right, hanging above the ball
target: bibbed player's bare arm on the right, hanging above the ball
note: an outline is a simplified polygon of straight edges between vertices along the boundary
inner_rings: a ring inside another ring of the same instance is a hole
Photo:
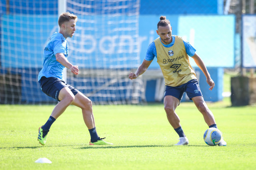
[[[194,59],[194,61],[196,62],[196,65],[202,70],[202,72],[206,76],[206,82],[210,86],[209,90],[212,90],[214,88],[215,84],[214,84],[214,81],[212,80],[204,62],[196,53],[192,56],[192,59]]]

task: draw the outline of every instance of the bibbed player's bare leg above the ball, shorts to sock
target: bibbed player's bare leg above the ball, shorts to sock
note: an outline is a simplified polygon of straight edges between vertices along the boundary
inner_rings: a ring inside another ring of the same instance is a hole
[[[210,126],[210,125],[216,124],[214,115],[212,114],[212,111],[210,111],[210,109],[204,102],[204,98],[202,96],[196,96],[192,98],[192,100],[196,105],[197,109],[204,116],[204,121],[207,123],[207,125]]]

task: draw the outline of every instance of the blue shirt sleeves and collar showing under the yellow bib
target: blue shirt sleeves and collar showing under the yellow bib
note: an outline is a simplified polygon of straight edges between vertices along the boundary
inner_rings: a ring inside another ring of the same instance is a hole
[[[161,39],[160,39],[161,40]],[[161,42],[161,41],[160,41]],[[172,42],[170,44],[163,44],[162,42],[162,45],[164,45],[164,47],[172,47],[172,45],[174,45],[174,42],[175,42],[175,35],[172,35]],[[195,55],[196,53],[196,49],[194,49],[194,47],[192,45],[190,45],[190,43],[188,43],[187,41],[183,41],[184,43],[184,46],[185,46],[185,49],[186,49],[186,53],[192,57]],[[154,43],[154,41],[152,43],[150,43],[150,45],[148,46],[148,51],[146,53],[146,57],[145,57],[145,60],[146,61],[151,61],[154,59],[154,57],[157,57],[156,56],[156,45]]]

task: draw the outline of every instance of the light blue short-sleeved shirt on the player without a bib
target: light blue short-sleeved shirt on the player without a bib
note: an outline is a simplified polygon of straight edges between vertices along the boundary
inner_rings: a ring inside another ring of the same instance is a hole
[[[68,57],[68,42],[61,33],[54,33],[44,48],[43,68],[38,74],[39,83],[42,76],[64,80],[63,70],[65,67],[56,61],[57,53],[63,53],[66,58]]]

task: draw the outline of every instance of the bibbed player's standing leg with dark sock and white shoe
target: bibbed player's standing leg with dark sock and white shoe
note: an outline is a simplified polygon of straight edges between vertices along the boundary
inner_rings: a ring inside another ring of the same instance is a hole
[[[164,110],[166,112],[167,119],[180,137],[179,142],[176,145],[188,145],[188,138],[185,136],[180,125],[180,118],[175,112],[179,103],[180,101],[173,96],[164,97]]]

